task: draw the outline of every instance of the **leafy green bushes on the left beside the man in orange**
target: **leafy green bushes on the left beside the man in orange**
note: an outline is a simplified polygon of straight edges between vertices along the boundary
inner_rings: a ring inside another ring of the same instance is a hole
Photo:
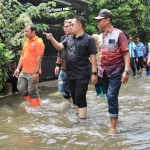
[[[3,82],[6,81],[8,74],[12,74],[17,66],[22,43],[25,40],[25,26],[33,24],[33,18],[49,19],[51,17],[50,11],[55,6],[55,2],[41,3],[38,6],[33,6],[30,3],[23,5],[18,0],[0,0],[0,48],[3,49],[3,51],[0,50],[0,89],[3,86]],[[46,31],[49,28],[46,24],[35,25],[38,31]],[[4,45],[7,50],[4,50]],[[11,56],[15,57],[12,59]],[[7,59],[4,59],[5,57]],[[3,59],[6,61],[2,61]]]

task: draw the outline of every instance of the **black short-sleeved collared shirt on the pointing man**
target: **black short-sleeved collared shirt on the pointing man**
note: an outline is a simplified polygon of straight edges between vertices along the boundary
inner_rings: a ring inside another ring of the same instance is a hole
[[[89,56],[97,53],[94,39],[87,33],[83,33],[78,38],[74,35],[68,36],[62,41],[62,44],[67,50],[66,70],[68,79],[90,78]]]

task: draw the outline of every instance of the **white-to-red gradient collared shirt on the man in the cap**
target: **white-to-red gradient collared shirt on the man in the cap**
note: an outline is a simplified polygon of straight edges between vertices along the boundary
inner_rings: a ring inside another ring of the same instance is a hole
[[[103,77],[105,70],[110,77],[125,66],[123,52],[128,51],[127,39],[121,30],[111,27],[105,37],[103,33],[99,35],[98,43],[100,46],[98,75]]]

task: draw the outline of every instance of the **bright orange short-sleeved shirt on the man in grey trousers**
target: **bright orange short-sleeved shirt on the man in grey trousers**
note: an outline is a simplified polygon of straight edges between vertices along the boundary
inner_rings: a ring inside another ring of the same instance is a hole
[[[35,72],[37,56],[43,55],[44,49],[45,46],[42,39],[38,38],[37,36],[33,40],[28,39],[24,42],[23,49],[22,49],[22,58],[23,58],[22,72],[25,73]]]

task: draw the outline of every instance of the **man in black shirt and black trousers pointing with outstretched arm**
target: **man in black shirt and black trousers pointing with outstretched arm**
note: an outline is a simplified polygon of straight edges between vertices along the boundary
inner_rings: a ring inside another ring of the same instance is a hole
[[[81,16],[72,19],[72,33],[58,43],[51,33],[44,33],[57,50],[66,49],[67,77],[73,103],[78,106],[79,118],[85,119],[87,113],[86,92],[91,76],[93,84],[97,83],[97,61],[94,39],[84,32],[85,20]],[[91,56],[91,65],[89,57]]]

